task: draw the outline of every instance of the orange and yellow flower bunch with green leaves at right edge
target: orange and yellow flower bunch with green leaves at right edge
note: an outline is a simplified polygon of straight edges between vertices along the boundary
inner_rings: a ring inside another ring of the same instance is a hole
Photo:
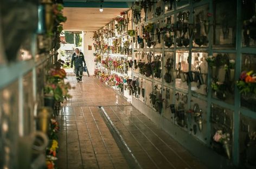
[[[242,72],[236,85],[242,94],[256,94],[256,73],[253,73],[253,70]]]

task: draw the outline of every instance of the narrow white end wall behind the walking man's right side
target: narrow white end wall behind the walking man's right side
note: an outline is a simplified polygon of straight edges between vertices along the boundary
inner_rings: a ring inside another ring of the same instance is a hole
[[[86,32],[84,31],[84,36],[83,36],[83,44],[84,44],[84,48],[83,48],[83,53],[85,55],[85,62],[86,62],[86,66],[87,69],[89,71],[89,74],[91,76],[93,76],[94,74],[94,56],[93,53],[95,53],[94,47],[93,47],[93,32]],[[88,45],[92,46],[92,50],[88,50]]]

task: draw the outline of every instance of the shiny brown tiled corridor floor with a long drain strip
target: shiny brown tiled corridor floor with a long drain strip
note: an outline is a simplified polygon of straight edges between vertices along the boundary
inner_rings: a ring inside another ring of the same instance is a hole
[[[68,81],[76,88],[58,116],[58,168],[206,168],[99,79]]]

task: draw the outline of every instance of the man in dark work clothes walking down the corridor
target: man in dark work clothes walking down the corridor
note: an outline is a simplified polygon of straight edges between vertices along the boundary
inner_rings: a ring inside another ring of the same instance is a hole
[[[82,72],[83,72],[82,62],[84,62],[85,64],[84,66],[86,66],[86,63],[85,63],[84,54],[81,51],[79,51],[78,48],[75,49],[75,53],[72,55],[71,68],[73,68],[73,62],[75,65],[76,80],[80,82],[82,81]]]

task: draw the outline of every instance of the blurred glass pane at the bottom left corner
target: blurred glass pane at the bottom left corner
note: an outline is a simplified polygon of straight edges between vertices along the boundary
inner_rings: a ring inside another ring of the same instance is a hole
[[[0,167],[18,168],[18,82],[0,90]],[[23,125],[20,124],[22,127]],[[20,128],[21,129],[21,128]],[[24,152],[23,152],[24,153]]]

